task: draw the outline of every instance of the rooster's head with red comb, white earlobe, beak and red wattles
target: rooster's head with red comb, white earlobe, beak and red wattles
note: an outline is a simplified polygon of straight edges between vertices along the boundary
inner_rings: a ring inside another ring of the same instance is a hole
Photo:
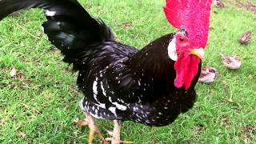
[[[208,39],[211,3],[212,0],[166,0],[166,18],[179,29],[168,46],[168,55],[175,61],[174,85],[178,88],[185,86],[188,90],[198,74]]]

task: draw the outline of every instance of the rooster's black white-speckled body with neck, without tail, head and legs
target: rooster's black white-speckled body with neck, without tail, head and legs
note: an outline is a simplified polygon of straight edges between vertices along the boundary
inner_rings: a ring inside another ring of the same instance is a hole
[[[80,106],[96,118],[173,122],[193,106],[199,71],[190,90],[175,88],[174,61],[164,53],[172,38],[167,34],[141,51],[114,41],[93,47],[98,54],[79,70],[78,87],[86,95]]]

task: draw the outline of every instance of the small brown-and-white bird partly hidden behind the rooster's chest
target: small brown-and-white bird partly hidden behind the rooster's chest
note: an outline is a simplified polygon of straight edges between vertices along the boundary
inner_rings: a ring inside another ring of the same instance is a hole
[[[214,82],[217,79],[217,77],[218,77],[217,69],[210,66],[203,66],[198,82],[203,82],[203,83]]]

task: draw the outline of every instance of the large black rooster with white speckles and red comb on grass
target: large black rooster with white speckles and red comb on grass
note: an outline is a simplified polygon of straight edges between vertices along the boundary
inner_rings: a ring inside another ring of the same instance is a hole
[[[63,61],[78,71],[79,106],[103,142],[119,143],[120,123],[166,126],[189,110],[196,98],[208,39],[211,0],[167,0],[164,12],[179,30],[150,42],[142,50],[114,39],[102,19],[92,18],[75,0],[2,0],[0,19],[17,10],[41,8],[49,41]],[[113,138],[103,138],[93,118],[114,120]]]

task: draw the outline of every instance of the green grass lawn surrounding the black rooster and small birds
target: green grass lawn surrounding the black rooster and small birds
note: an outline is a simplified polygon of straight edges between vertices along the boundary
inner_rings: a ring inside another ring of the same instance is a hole
[[[154,38],[174,32],[162,13],[164,0],[81,2],[90,14],[114,29],[118,41],[131,46],[142,48]],[[218,14],[211,14],[203,65],[218,69],[217,82],[199,83],[194,108],[170,126],[124,122],[123,139],[146,144],[256,142],[256,36],[248,46],[238,44],[238,36],[245,30],[256,33],[256,14],[230,5],[222,10],[213,6],[213,10]],[[77,74],[70,72],[42,34],[44,20],[40,10],[30,10],[0,22],[0,143],[87,142],[88,128],[73,123],[84,118],[78,108],[82,94],[75,86]],[[241,69],[226,70],[217,51],[238,54]],[[21,78],[10,78],[12,67]],[[98,123],[107,136],[112,122]]]

